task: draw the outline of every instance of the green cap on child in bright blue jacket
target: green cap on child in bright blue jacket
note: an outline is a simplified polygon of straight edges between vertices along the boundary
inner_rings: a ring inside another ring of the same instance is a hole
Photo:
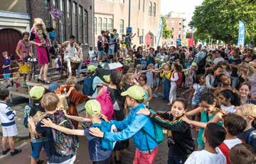
[[[143,100],[145,91],[141,86],[131,86],[126,91],[122,92],[121,95],[129,95],[129,97],[134,98],[135,100]]]

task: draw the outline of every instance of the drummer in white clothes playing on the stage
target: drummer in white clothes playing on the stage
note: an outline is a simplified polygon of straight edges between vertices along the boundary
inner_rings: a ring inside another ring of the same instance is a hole
[[[65,47],[65,52],[64,52],[64,61],[67,63],[68,66],[68,74],[72,74],[72,69],[71,69],[71,57],[78,57],[78,44],[75,42],[75,36],[70,35],[70,40],[65,41],[62,44],[63,47]]]

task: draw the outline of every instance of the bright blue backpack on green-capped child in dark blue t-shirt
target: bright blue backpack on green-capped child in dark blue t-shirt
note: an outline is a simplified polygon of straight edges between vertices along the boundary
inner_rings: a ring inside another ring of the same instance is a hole
[[[102,119],[102,124],[92,124],[91,127],[98,127],[102,132],[117,132],[117,127],[112,122],[105,122]],[[107,141],[102,139],[102,149],[103,150],[113,150],[116,142]]]

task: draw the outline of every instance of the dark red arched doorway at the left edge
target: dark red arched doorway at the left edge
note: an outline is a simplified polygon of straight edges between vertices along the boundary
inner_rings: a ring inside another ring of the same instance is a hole
[[[3,63],[2,52],[7,51],[9,55],[14,55],[16,57],[16,45],[18,40],[22,39],[22,35],[18,30],[11,28],[4,28],[0,30],[0,63]],[[1,65],[1,64],[0,64]],[[0,74],[2,74],[2,66],[0,67]]]

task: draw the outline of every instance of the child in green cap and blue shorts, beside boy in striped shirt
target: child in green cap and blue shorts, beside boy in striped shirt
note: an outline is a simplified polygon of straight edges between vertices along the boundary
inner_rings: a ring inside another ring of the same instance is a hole
[[[24,117],[24,125],[25,127],[28,127],[31,136],[31,164],[41,163],[39,156],[42,148],[46,151],[46,155],[48,157],[50,156],[50,145],[46,136],[33,133],[31,125],[28,124],[28,117],[33,117],[35,124],[45,117],[46,110],[41,106],[40,102],[44,93],[45,89],[42,86],[33,86],[33,88],[29,90],[29,96],[31,97],[32,103],[25,107],[26,115]]]

